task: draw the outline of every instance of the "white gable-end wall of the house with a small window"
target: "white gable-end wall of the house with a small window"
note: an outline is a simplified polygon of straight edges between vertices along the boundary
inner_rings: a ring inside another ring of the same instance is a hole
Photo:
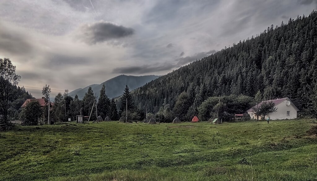
[[[271,120],[297,118],[297,109],[293,106],[293,104],[286,105],[287,102],[288,102],[288,99],[275,105],[275,107],[277,108],[277,111],[268,114]],[[287,111],[289,111],[289,115],[287,115]]]

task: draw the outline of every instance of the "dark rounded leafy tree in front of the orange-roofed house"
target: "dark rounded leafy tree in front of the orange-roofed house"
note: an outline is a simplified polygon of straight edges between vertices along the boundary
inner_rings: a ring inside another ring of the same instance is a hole
[[[41,104],[38,101],[31,100],[26,106],[23,108],[20,113],[22,119],[22,125],[25,126],[35,126],[38,125],[42,116],[43,109]]]

